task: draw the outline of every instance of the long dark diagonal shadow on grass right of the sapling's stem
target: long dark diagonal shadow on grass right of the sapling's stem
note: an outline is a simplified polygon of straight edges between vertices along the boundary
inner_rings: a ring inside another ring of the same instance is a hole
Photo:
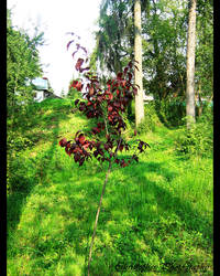
[[[212,238],[212,226],[208,219],[202,216],[189,201],[183,201],[179,195],[174,194],[174,192],[169,191],[169,182],[174,180],[178,173],[176,171],[168,170],[164,168],[163,162],[139,162],[135,164],[135,167],[139,168],[139,176],[136,176],[138,180],[142,183],[141,190],[136,190],[141,193],[144,193],[144,197],[147,202],[147,193],[151,192],[154,194],[154,200],[160,206],[162,212],[172,212],[175,213],[184,223],[185,229],[193,230],[193,231],[200,231],[204,235],[204,237],[207,237],[209,240]],[[135,170],[134,170],[135,171]],[[142,176],[142,172],[144,172],[145,176]],[[147,173],[156,172],[157,176],[162,176],[162,181],[167,183],[167,189],[160,185],[160,182],[152,181],[151,177],[147,177]],[[127,184],[127,193],[130,194],[131,190],[131,179],[135,181],[135,176],[133,174],[132,170],[128,168],[128,170],[124,170],[125,178],[123,179],[123,182]],[[139,187],[139,182],[136,182],[136,185]],[[148,189],[147,189],[148,188]],[[132,193],[131,193],[132,194]],[[125,194],[124,194],[125,195]],[[141,194],[140,194],[141,195]],[[108,194],[107,194],[108,197]],[[130,195],[129,195],[130,197]],[[132,195],[130,197],[130,203],[132,203]],[[138,202],[138,204],[141,204],[141,202]],[[153,201],[152,201],[153,203]],[[133,214],[132,206],[133,204],[127,204],[130,214]],[[134,216],[133,216],[134,217]],[[140,220],[141,217],[135,217]]]

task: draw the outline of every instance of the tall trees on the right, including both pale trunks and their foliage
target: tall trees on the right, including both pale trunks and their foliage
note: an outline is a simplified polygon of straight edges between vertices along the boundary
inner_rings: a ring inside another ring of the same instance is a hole
[[[212,98],[212,1],[102,0],[91,66],[111,73],[138,60],[136,124],[143,118],[142,83],[158,103],[186,102],[195,121],[195,97],[200,114],[202,97]]]

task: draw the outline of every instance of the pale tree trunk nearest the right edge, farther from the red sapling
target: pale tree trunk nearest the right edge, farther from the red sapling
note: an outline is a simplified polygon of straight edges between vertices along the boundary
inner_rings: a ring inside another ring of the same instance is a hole
[[[196,121],[195,116],[195,51],[196,51],[196,0],[189,0],[189,19],[187,36],[187,83],[186,115],[187,128]]]

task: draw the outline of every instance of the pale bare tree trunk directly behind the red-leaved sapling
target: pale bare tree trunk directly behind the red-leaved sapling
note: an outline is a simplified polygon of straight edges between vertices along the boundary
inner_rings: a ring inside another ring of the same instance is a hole
[[[134,1],[134,60],[138,62],[139,67],[139,70],[134,70],[134,82],[138,85],[138,95],[135,96],[135,125],[138,127],[144,118],[140,0]]]

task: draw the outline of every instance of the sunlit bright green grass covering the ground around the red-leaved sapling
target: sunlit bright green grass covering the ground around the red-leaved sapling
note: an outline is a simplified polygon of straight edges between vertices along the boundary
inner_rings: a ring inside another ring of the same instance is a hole
[[[47,99],[19,118],[34,144],[16,153],[8,195],[8,275],[80,276],[107,167],[78,168],[58,141],[87,120]],[[19,123],[18,123],[19,126]],[[141,139],[140,162],[110,174],[91,275],[212,275],[212,159],[179,156],[176,129]]]

